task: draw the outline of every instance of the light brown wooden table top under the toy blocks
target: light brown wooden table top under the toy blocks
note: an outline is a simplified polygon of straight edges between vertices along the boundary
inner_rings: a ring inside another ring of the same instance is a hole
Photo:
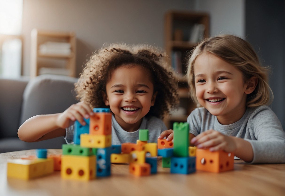
[[[49,149],[49,154],[61,154],[61,149]],[[35,155],[34,150],[0,154],[0,195],[285,195],[285,164],[250,165],[235,161],[234,171],[208,173],[196,171],[189,175],[171,174],[161,167],[158,173],[136,177],[129,165],[112,164],[111,177],[92,181],[61,179],[60,172],[29,181],[7,178],[7,159]]]

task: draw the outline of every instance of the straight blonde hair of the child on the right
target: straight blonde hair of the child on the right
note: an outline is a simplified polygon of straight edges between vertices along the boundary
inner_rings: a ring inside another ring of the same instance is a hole
[[[247,95],[246,106],[256,107],[269,105],[273,100],[273,93],[268,85],[268,67],[262,67],[257,54],[251,45],[235,35],[218,35],[204,39],[190,54],[187,66],[187,81],[190,86],[190,95],[197,103],[194,69],[198,55],[209,52],[223,59],[227,63],[236,66],[243,73],[243,80],[247,82],[252,76],[257,77],[255,90]]]

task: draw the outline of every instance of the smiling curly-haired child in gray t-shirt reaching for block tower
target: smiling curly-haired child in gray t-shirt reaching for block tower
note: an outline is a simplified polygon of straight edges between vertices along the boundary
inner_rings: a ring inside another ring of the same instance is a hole
[[[139,129],[149,129],[149,142],[166,130],[164,115],[178,103],[177,83],[168,58],[148,45],[103,46],[86,63],[75,91],[79,103],[63,113],[34,116],[21,125],[18,136],[27,142],[59,136],[73,140],[74,121],[85,125],[92,108],[109,107],[112,144],[136,143]]]

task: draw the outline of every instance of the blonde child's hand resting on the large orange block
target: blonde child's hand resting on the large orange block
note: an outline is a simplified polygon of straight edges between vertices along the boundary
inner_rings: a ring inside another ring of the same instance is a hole
[[[235,140],[231,136],[223,135],[213,129],[200,133],[190,142],[197,148],[209,148],[210,151],[223,150],[230,153],[237,149]]]

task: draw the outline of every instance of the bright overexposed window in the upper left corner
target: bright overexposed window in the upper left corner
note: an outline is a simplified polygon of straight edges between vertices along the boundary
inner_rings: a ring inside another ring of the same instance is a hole
[[[20,35],[23,0],[0,0],[0,34]]]

